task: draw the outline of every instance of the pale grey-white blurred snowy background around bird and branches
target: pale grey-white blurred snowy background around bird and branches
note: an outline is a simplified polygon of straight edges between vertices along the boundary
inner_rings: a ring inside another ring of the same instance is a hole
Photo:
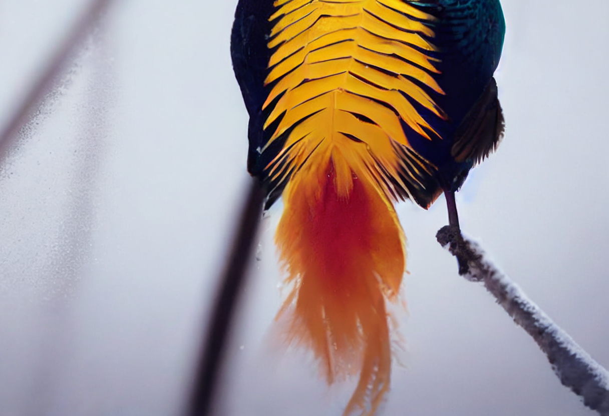
[[[609,367],[609,2],[503,0],[497,154],[457,196],[463,230]],[[0,127],[86,0],[0,0]],[[0,159],[0,415],[164,416],[185,403],[247,174],[235,0],[115,1]],[[397,207],[404,348],[384,415],[593,415],[435,241],[443,199]],[[340,415],[270,328],[262,223],[218,415]]]

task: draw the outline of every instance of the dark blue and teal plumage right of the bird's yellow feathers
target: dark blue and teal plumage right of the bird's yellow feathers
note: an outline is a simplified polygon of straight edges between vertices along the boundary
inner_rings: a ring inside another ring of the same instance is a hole
[[[438,47],[435,57],[440,60],[438,69],[442,72],[438,84],[445,94],[434,99],[448,119],[439,119],[421,109],[438,135],[431,141],[414,134],[409,137],[415,137],[412,140],[415,150],[438,167],[437,186],[454,191],[470,168],[496,148],[502,135],[503,117],[493,73],[501,58],[505,20],[499,0],[412,4],[437,16],[432,24],[433,42]],[[460,148],[454,150],[457,142]],[[467,153],[468,148],[471,154]],[[465,159],[457,160],[456,153],[465,155]]]

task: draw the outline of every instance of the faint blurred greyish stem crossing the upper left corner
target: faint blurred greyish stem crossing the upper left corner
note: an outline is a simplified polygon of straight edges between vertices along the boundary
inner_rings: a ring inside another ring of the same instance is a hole
[[[40,77],[33,83],[23,101],[16,105],[15,113],[9,117],[7,124],[0,130],[0,160],[3,158],[10,142],[16,133],[26,124],[35,109],[40,105],[44,95],[52,88],[53,83],[65,71],[66,64],[72,58],[80,42],[85,38],[91,27],[97,23],[102,13],[112,0],[91,0],[76,24],[62,41],[49,60]]]

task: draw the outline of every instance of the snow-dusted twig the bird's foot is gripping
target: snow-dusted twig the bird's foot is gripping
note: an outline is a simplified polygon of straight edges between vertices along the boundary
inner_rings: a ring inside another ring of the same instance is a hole
[[[590,409],[609,416],[609,372],[499,271],[477,243],[450,226],[442,227],[436,238],[459,260],[459,274],[483,282],[514,322],[532,336],[561,383],[582,397]]]

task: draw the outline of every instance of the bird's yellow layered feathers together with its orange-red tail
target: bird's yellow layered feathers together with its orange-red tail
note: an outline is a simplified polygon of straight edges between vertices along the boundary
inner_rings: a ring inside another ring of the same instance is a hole
[[[328,383],[359,373],[345,415],[375,415],[389,390],[385,299],[396,300],[405,240],[392,197],[424,189],[435,167],[404,124],[430,139],[418,112],[443,117],[427,52],[434,18],[408,0],[276,0],[262,109],[266,167],[285,185],[276,242],[294,283],[280,316],[308,345]],[[415,82],[413,80],[417,80]],[[273,146],[275,147],[275,146]],[[407,183],[405,183],[407,182]],[[333,342],[334,350],[328,348]]]

